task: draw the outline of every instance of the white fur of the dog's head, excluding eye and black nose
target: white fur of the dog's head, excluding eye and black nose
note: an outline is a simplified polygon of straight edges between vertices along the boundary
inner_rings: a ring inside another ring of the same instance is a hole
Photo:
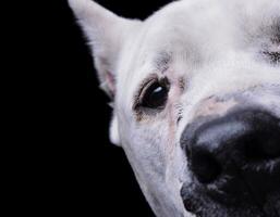
[[[122,144],[157,216],[192,216],[180,197],[182,183],[190,181],[181,132],[210,95],[280,85],[279,65],[259,55],[264,47],[280,50],[269,41],[280,1],[182,0],[144,22],[121,18],[90,0],[69,2],[89,40],[101,86],[113,92],[112,142]],[[166,72],[170,101],[160,114],[138,122],[132,108],[135,92],[150,74],[160,76],[153,61],[162,51],[172,54]],[[113,79],[108,80],[108,73]],[[183,92],[179,78],[186,84]],[[271,94],[255,101],[280,104]],[[176,126],[179,105],[183,119]]]

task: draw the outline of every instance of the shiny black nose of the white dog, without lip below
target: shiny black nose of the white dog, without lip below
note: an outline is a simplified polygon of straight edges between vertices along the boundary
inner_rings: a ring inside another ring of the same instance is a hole
[[[202,184],[227,175],[238,176],[243,168],[257,173],[258,168],[279,161],[280,120],[263,111],[235,111],[188,125],[181,145],[194,177]],[[266,177],[260,181],[266,181]]]

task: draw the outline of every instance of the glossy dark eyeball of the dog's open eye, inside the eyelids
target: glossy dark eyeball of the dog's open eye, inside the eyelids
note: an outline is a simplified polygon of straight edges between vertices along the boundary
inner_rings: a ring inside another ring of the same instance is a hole
[[[169,87],[166,81],[154,81],[143,90],[139,105],[148,108],[163,108],[168,100]]]

